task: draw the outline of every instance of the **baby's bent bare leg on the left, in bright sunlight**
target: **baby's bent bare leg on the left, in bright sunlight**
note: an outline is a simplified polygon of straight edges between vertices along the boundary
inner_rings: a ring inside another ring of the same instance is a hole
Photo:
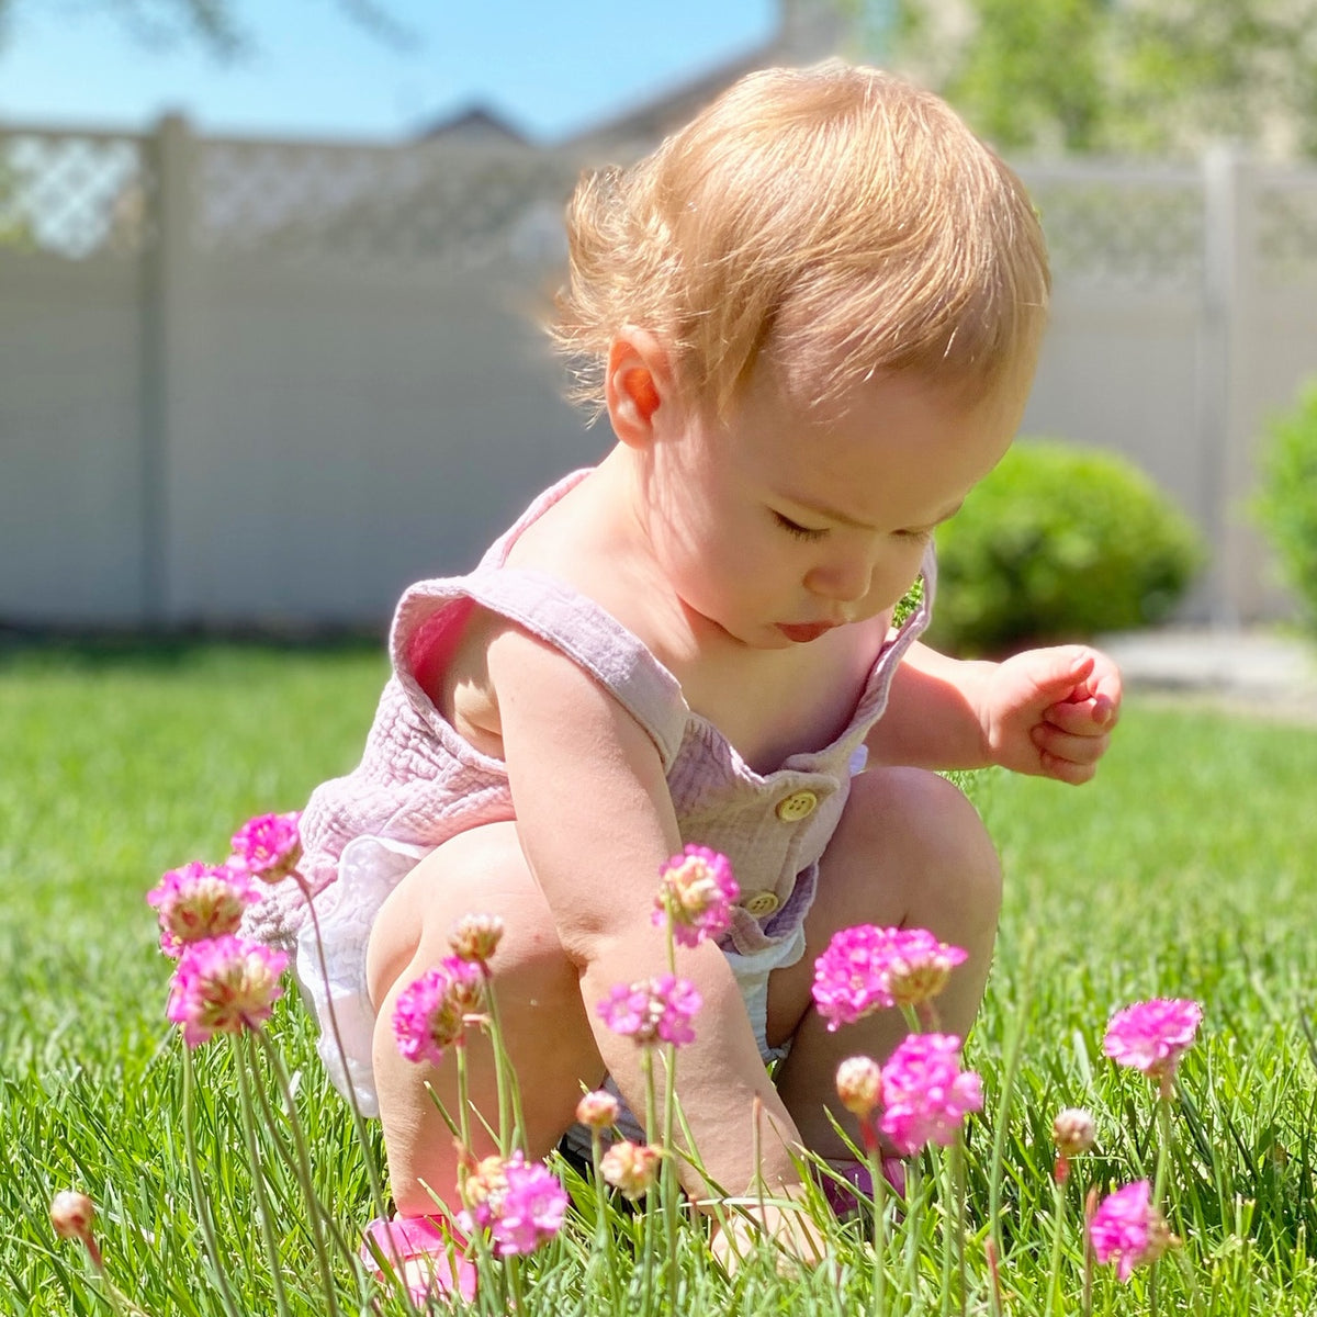
[[[572,1125],[582,1081],[597,1088],[603,1080],[577,971],[522,856],[515,824],[493,823],[453,838],[398,885],[370,935],[367,972],[378,1011],[375,1085],[402,1217],[435,1212],[423,1181],[456,1204],[457,1151],[425,1085],[456,1121],[457,1068],[453,1051],[437,1067],[399,1055],[394,1004],[408,984],[452,954],[449,932],[465,914],[495,914],[506,926],[490,968],[532,1158],[547,1155]],[[468,1030],[466,1055],[470,1102],[497,1127],[494,1056],[475,1027]],[[495,1151],[474,1115],[470,1129],[475,1156]]]

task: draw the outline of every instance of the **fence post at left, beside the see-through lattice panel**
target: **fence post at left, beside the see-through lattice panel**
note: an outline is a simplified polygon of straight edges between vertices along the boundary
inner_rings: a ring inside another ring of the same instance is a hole
[[[183,427],[188,261],[192,245],[195,145],[180,115],[166,115],[148,138],[154,174],[142,281],[142,620],[174,616],[170,581],[170,450]]]

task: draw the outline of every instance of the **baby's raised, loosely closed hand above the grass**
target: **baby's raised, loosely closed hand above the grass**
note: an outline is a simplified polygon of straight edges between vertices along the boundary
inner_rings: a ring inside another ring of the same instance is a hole
[[[1088,645],[1030,649],[998,664],[980,707],[994,764],[1087,782],[1121,712],[1121,673]]]

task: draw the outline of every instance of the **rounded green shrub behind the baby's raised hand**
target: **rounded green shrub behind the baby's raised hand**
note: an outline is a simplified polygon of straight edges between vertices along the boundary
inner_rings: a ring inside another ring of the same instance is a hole
[[[938,532],[930,636],[1001,655],[1144,626],[1204,557],[1188,518],[1131,462],[1025,439]]]

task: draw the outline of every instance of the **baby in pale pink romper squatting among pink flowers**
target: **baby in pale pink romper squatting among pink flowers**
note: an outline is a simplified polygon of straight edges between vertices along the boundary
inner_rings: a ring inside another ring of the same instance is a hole
[[[793,1150],[849,1156],[838,1063],[905,1033],[892,1011],[827,1031],[810,988],[830,936],[930,928],[969,952],[942,1027],[964,1036],[979,1008],[998,864],[932,770],[1084,782],[1121,699],[1081,645],[997,664],[918,641],[934,531],[1015,433],[1048,292],[1023,188],[947,105],[840,63],[752,74],[586,178],[568,220],[554,332],[616,443],[469,576],[407,591],[365,759],[303,820],[340,1079],[383,1121],[403,1241],[436,1212],[427,1187],[453,1197],[427,1089],[453,1110],[456,1075],[404,1060],[391,1018],[461,915],[506,923],[495,990],[539,1156],[606,1076],[643,1110],[636,1048],[595,1005],[666,969],[662,863],[726,853],[731,931],[677,951],[705,1004],[677,1094],[714,1181],[790,1197]],[[313,959],[300,976],[317,990]],[[490,1052],[468,1055],[497,1113]]]

